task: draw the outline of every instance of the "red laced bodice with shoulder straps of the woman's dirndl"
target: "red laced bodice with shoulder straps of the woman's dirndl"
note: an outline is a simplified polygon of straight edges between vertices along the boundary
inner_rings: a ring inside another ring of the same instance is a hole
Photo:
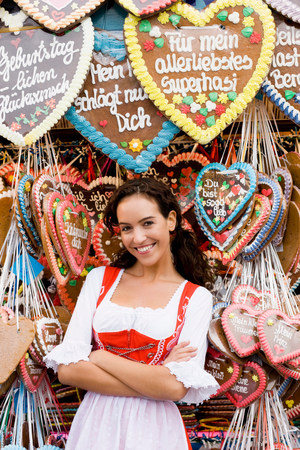
[[[116,267],[106,267],[97,308],[115,282],[120,270]],[[124,358],[145,364],[161,364],[174,345],[177,344],[189,299],[197,287],[189,281],[185,284],[178,305],[175,330],[171,336],[157,340],[134,329],[98,333],[93,328],[93,349],[105,349]]]

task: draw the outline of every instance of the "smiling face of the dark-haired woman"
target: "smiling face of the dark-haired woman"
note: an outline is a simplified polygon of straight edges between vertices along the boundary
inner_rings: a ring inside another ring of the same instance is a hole
[[[170,231],[176,226],[175,211],[165,218],[154,199],[134,194],[121,200],[117,217],[124,246],[141,264],[152,266],[171,257]]]

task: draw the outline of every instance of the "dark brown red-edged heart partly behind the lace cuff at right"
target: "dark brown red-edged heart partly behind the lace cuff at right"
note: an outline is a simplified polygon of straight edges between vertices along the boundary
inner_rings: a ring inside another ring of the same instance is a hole
[[[211,346],[207,348],[204,368],[220,385],[213,397],[228,391],[238,381],[242,372],[242,366]]]

